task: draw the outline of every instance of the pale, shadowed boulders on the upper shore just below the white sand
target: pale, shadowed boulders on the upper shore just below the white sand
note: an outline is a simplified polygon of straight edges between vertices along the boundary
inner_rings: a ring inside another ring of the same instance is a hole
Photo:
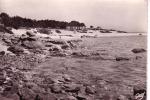
[[[78,47],[78,42],[75,40],[61,40],[51,38],[40,38],[35,33],[27,31],[21,36],[4,36],[2,41],[9,46],[8,51],[14,54],[28,53],[48,53],[53,56],[66,56],[67,50]]]

